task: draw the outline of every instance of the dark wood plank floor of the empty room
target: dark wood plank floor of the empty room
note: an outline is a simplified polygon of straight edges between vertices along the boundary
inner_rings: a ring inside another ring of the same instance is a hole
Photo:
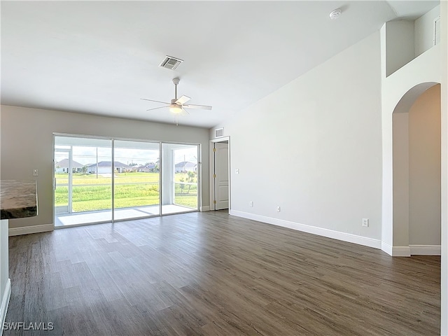
[[[440,335],[440,257],[192,213],[10,237],[3,335]]]

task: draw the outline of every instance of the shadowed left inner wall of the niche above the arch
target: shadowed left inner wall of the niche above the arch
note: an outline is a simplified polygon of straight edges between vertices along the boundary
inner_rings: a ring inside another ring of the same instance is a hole
[[[414,21],[386,22],[386,76],[414,59]]]

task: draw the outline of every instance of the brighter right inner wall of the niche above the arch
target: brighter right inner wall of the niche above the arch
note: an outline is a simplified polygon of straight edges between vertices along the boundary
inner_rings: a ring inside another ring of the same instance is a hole
[[[433,47],[434,19],[440,15],[440,5],[435,6],[414,22],[415,56]]]

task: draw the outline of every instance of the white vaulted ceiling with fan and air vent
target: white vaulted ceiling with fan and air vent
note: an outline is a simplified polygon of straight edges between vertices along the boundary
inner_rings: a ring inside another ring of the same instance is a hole
[[[395,18],[439,1],[1,1],[1,104],[213,127]],[[342,8],[338,20],[329,13]],[[158,66],[165,55],[184,62]],[[291,97],[294,99],[294,97]]]

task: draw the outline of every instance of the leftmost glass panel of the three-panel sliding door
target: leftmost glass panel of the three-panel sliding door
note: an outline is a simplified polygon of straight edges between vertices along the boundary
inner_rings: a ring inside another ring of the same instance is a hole
[[[112,141],[55,137],[55,225],[112,220]]]

